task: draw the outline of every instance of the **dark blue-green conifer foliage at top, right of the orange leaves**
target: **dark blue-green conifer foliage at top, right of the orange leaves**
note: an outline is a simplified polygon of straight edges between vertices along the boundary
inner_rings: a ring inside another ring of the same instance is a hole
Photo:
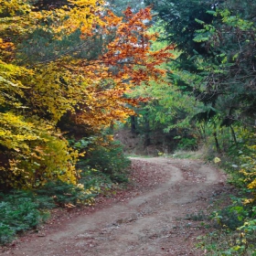
[[[212,1],[186,1],[186,0],[167,0],[167,1],[145,1],[148,5],[153,5],[157,12],[161,25],[165,27],[164,40],[175,43],[176,47],[183,51],[182,59],[188,66],[193,65],[187,57],[194,56],[195,51],[206,53],[200,44],[195,42],[195,32],[201,29],[196,18],[205,22],[210,22],[213,17],[207,14],[207,10],[214,7]],[[190,62],[190,63],[189,63]],[[185,67],[183,67],[184,69]]]

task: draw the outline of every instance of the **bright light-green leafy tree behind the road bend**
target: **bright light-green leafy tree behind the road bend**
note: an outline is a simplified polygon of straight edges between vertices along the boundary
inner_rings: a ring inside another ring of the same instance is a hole
[[[161,34],[163,28],[156,23],[151,31],[157,31]],[[165,48],[166,45],[167,42],[161,40],[154,42],[152,48],[157,50]],[[178,52],[172,50],[172,54],[172,59],[176,59]],[[161,69],[169,69],[171,63],[173,63],[173,60],[161,65]],[[152,80],[150,86],[145,84],[136,87],[129,93],[129,96],[135,99],[144,99],[144,102],[136,109],[138,113],[136,133],[144,136],[144,146],[158,144],[159,150],[162,150],[160,147],[164,145],[165,151],[173,151],[177,146],[181,146],[183,139],[186,139],[187,142],[193,140],[194,145],[191,147],[196,146],[194,137],[197,135],[197,126],[191,125],[189,119],[197,111],[199,104],[189,95],[182,94],[175,81],[170,83],[167,77],[163,77],[161,82]],[[132,118],[131,121],[133,121]],[[155,136],[158,136],[156,142]]]

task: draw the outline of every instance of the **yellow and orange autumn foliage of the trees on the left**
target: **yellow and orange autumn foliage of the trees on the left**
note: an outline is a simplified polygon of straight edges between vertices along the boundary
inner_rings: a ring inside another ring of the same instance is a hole
[[[2,188],[76,184],[80,154],[64,135],[98,133],[133,114],[137,102],[125,93],[161,80],[159,65],[172,57],[172,47],[151,50],[149,8],[121,18],[103,1],[33,2],[0,1]]]

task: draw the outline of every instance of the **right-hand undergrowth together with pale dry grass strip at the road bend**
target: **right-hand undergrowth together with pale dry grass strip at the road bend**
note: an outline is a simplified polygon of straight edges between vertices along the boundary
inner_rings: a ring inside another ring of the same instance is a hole
[[[236,187],[235,196],[226,195],[225,203],[213,206],[208,219],[210,231],[198,237],[197,248],[204,251],[204,255],[256,256],[255,144],[255,135],[243,131],[237,144],[229,147],[229,152],[176,151],[172,155],[175,158],[198,158],[217,165],[226,171],[228,183]],[[206,218],[197,214],[187,215],[186,219],[199,221]]]

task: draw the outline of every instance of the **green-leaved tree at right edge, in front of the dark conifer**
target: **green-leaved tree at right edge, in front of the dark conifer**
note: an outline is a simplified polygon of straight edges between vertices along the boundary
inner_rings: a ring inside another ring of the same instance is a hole
[[[212,12],[217,18],[213,26],[198,21],[204,29],[198,31],[195,40],[203,43],[214,57],[203,60],[198,56],[197,63],[203,60],[198,68],[205,72],[206,78],[204,86],[198,87],[197,97],[223,109],[221,125],[229,126],[235,121],[253,125],[255,21],[236,14],[231,6]]]

